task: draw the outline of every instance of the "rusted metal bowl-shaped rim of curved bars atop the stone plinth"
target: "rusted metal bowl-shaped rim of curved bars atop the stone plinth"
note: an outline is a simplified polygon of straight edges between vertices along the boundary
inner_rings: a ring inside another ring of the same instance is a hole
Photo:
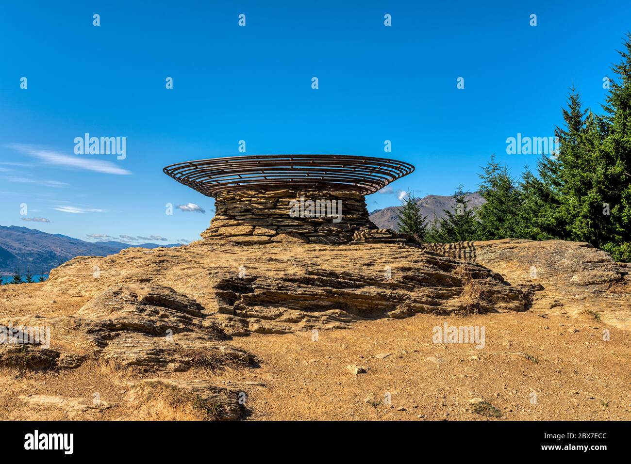
[[[236,190],[325,188],[374,194],[414,171],[403,161],[340,154],[266,154],[186,161],[165,174],[208,197]]]

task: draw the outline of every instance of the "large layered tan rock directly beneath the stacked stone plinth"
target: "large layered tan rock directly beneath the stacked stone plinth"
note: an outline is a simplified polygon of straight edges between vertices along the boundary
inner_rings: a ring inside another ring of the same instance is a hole
[[[199,307],[204,320],[232,335],[345,328],[365,319],[466,311],[467,279],[483,288],[481,311],[528,307],[524,291],[481,265],[414,247],[368,243],[260,248],[209,241],[151,252],[129,249],[115,257],[74,258],[52,271],[46,285],[56,292],[96,297],[76,316],[98,321],[107,334],[122,330],[112,341],[98,337],[98,331],[93,335],[95,345],[107,344],[102,356],[112,345],[120,346],[112,357],[121,361],[138,349],[146,352],[141,340],[161,346],[165,342],[157,336],[163,338],[165,330],[197,333],[191,327],[199,325]],[[167,282],[177,292],[168,289],[168,298],[160,297],[168,302],[157,301],[151,289]],[[117,287],[121,285],[133,285],[136,293]],[[139,285],[145,293],[139,293]],[[136,340],[131,350],[124,349],[129,330]]]

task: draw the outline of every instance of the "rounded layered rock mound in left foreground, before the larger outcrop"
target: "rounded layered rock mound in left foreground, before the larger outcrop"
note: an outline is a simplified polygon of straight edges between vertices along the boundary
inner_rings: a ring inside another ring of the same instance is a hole
[[[198,353],[209,362],[247,365],[251,356],[221,344],[225,333],[204,321],[199,303],[164,286],[121,284],[91,299],[76,313],[98,360],[143,371],[186,371]],[[213,364],[216,365],[216,364]]]

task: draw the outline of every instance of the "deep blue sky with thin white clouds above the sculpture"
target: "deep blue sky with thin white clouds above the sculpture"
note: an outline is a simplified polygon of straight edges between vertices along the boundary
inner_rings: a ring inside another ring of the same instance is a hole
[[[370,211],[398,204],[397,190],[475,190],[492,153],[514,174],[534,166],[506,154],[506,139],[553,136],[571,84],[599,110],[630,18],[628,0],[3,2],[0,224],[196,240],[213,200],[162,168],[238,155],[242,139],[246,154],[416,165],[370,195]],[[126,159],[74,154],[85,132],[127,137]],[[23,221],[22,203],[50,222]],[[167,203],[206,212],[168,216]]]

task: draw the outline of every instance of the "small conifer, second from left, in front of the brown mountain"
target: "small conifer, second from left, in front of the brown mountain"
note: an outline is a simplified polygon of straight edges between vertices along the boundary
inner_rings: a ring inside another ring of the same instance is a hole
[[[459,185],[454,198],[454,212],[444,209],[445,217],[434,219],[427,233],[427,241],[433,243],[452,243],[454,241],[478,240],[479,223],[475,212],[468,207],[469,201]]]

